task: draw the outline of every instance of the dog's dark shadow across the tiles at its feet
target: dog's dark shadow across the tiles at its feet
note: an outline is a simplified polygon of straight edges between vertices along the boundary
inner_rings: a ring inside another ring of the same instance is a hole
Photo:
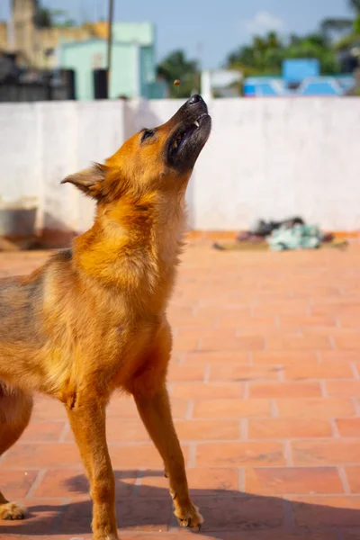
[[[190,473],[191,474],[191,473]],[[116,512],[120,529],[141,532],[165,532],[176,527],[166,481],[160,471],[115,472]],[[152,479],[152,480],[151,480]],[[153,484],[157,484],[157,487]],[[159,487],[161,486],[161,487]],[[71,477],[63,486],[67,499],[29,500],[29,516],[24,521],[2,522],[4,534],[22,536],[64,535],[83,540],[91,537],[92,504],[83,474]],[[337,540],[347,530],[349,538],[360,538],[360,511],[357,498],[344,500],[321,498],[322,505],[242,493],[224,488],[194,489],[193,502],[200,507],[205,524],[201,535],[207,538],[253,540]],[[296,501],[297,499],[297,501]],[[327,500],[325,503],[324,500]],[[25,501],[26,502],[26,501]],[[3,525],[4,524],[4,525]],[[239,536],[241,534],[241,536]],[[351,535],[356,536],[351,536]],[[222,536],[224,535],[224,536]],[[258,536],[257,536],[258,535]],[[264,535],[264,536],[263,536]],[[358,535],[358,536],[357,536]],[[154,537],[154,536],[150,536]]]

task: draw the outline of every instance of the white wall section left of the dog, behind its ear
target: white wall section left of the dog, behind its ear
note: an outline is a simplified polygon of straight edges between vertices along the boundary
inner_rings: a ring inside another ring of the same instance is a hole
[[[41,229],[86,229],[94,202],[60,182],[119,148],[123,109],[120,100],[1,104],[1,199],[36,198]]]

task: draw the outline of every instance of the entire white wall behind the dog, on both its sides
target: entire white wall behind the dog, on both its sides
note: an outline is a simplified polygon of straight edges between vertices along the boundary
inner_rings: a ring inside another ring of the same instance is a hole
[[[0,195],[36,196],[40,226],[86,229],[93,202],[60,180],[182,103],[0,105]],[[209,108],[211,138],[187,193],[192,228],[241,229],[293,214],[325,229],[360,228],[360,100],[231,99]]]

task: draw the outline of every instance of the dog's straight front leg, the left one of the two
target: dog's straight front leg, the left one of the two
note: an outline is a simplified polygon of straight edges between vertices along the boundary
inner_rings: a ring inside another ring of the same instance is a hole
[[[106,444],[105,403],[97,401],[94,389],[89,393],[91,401],[76,395],[67,403],[67,416],[90,482],[94,540],[115,540],[115,480]]]

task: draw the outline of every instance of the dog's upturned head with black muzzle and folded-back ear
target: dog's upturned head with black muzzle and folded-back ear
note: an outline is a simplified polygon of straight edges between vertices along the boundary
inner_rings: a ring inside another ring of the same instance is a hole
[[[140,130],[104,165],[67,176],[62,184],[75,184],[99,202],[123,195],[139,198],[151,191],[184,191],[210,131],[206,103],[195,94],[165,124]]]

